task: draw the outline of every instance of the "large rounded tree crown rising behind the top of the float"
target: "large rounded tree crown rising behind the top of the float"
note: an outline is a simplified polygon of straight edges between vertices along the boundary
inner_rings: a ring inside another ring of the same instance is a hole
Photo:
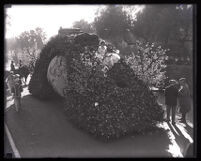
[[[98,11],[93,25],[101,38],[117,44],[131,27],[130,23],[130,17],[123,6],[111,5]]]

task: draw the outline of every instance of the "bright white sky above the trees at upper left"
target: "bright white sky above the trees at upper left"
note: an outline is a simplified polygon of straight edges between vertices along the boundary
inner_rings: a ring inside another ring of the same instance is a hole
[[[12,5],[5,9],[9,15],[6,22],[10,22],[6,25],[6,38],[41,27],[49,39],[58,33],[60,26],[70,28],[73,22],[81,19],[93,22],[99,7],[104,5]]]

